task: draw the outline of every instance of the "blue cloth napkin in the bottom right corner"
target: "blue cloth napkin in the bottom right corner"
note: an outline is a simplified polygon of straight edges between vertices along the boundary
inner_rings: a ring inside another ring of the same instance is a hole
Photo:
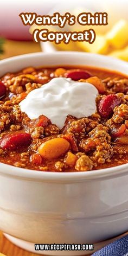
[[[128,235],[105,246],[92,256],[128,256]]]

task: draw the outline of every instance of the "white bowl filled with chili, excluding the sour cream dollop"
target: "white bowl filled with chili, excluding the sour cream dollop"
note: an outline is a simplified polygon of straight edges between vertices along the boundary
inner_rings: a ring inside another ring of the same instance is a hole
[[[24,248],[95,244],[127,231],[127,63],[57,52],[0,66],[0,229]],[[56,77],[94,84],[97,112],[68,116],[61,130],[48,117],[24,116],[20,102]]]

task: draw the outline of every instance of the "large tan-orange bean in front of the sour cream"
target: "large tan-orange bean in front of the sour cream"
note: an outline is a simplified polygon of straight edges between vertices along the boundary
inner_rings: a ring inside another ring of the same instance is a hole
[[[39,153],[46,159],[57,158],[66,153],[69,149],[69,142],[63,138],[49,139],[39,147]]]

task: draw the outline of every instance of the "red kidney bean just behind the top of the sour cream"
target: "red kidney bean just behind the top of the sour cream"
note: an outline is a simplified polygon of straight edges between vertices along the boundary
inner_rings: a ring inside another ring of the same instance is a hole
[[[66,73],[65,76],[66,78],[71,78],[74,81],[78,81],[80,79],[89,78],[91,74],[89,74],[87,71],[77,69],[77,70]]]

